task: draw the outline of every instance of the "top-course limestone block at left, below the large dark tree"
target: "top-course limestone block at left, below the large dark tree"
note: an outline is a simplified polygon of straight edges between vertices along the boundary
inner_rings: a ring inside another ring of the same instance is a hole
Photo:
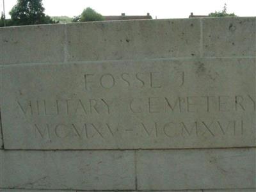
[[[64,60],[65,25],[0,29],[1,63],[45,63]]]

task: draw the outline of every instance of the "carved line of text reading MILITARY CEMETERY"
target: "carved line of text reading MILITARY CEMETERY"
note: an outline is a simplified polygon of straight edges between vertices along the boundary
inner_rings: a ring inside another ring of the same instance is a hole
[[[120,103],[119,108],[115,104]],[[182,97],[141,97],[67,100],[18,100],[20,114],[25,116],[108,115],[129,113],[196,113],[256,111],[253,95],[216,95]]]

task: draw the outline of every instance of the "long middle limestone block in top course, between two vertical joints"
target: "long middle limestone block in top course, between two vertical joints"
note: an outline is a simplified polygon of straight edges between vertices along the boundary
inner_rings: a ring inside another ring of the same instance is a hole
[[[68,61],[199,56],[198,19],[67,24]]]

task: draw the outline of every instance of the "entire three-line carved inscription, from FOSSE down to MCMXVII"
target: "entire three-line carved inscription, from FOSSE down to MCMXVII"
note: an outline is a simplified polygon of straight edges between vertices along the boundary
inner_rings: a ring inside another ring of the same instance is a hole
[[[134,72],[126,67],[86,68],[76,81],[68,77],[66,83],[74,90],[60,87],[36,97],[20,94],[15,118],[28,125],[32,140],[56,146],[76,143],[74,148],[90,148],[90,143],[95,148],[216,147],[226,140],[227,145],[242,143],[255,133],[253,90],[225,92],[227,84],[216,88],[220,76],[208,86],[179,65],[166,65],[166,71],[156,66]],[[192,86],[189,78],[198,84]]]

